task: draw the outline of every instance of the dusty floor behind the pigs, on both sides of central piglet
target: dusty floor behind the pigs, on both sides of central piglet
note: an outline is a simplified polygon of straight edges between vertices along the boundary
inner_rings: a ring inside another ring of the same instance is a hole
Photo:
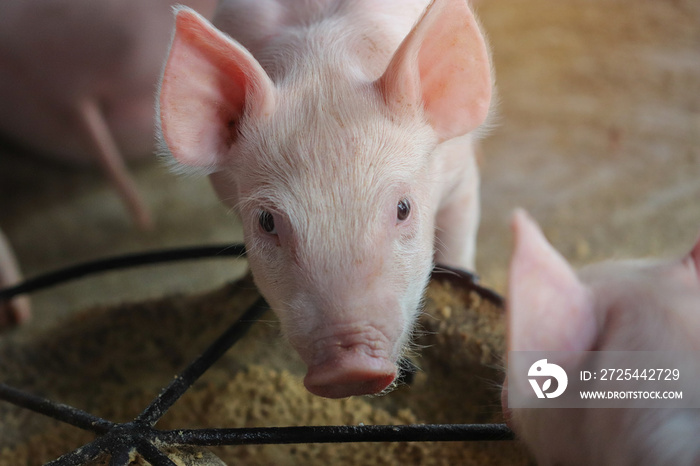
[[[700,231],[700,3],[483,0],[479,11],[500,95],[481,163],[483,282],[504,289],[516,206],[575,264],[688,249]],[[0,226],[26,274],[240,239],[206,180],[156,162],[133,171],[155,214],[152,232],[132,228],[99,174],[0,153]],[[34,321],[10,338],[92,303],[214,288],[242,267],[153,267],[42,292]]]

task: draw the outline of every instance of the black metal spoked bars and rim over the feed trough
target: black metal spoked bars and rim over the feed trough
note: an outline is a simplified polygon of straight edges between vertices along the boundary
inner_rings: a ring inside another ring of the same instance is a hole
[[[47,288],[90,274],[136,267],[146,264],[205,257],[242,257],[241,244],[179,248],[145,254],[131,254],[79,264],[27,280],[17,286],[0,289],[0,300]],[[444,270],[444,269],[443,269]],[[437,269],[434,273],[440,273]],[[502,298],[479,286],[476,277],[458,270],[445,275],[458,280],[462,286],[474,289],[496,304]],[[241,318],[215,340],[199,357],[188,365],[153,402],[132,422],[116,424],[71,406],[55,403],[0,383],[0,400],[30,409],[56,420],[96,433],[99,437],[47,463],[50,466],[79,466],[104,453],[111,454],[110,465],[125,466],[131,451],[138,451],[154,466],[175,463],[163,454],[155,443],[165,445],[244,445],[291,443],[348,442],[420,442],[420,441],[500,441],[512,440],[513,432],[505,424],[422,424],[397,426],[301,426],[260,427],[241,429],[179,429],[160,431],[154,428],[158,420],[187,391],[187,389],[216,362],[231,346],[245,335],[250,326],[267,310],[263,298],[256,301]]]

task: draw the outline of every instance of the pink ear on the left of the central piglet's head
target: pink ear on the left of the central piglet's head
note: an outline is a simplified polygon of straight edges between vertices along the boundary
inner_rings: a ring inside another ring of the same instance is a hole
[[[183,7],[176,15],[157,126],[179,163],[216,170],[241,118],[272,111],[274,84],[243,46],[194,10]]]

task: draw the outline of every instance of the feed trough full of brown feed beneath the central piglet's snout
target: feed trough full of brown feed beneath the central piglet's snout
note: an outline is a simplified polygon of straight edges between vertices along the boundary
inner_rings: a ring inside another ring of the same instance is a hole
[[[243,252],[197,251],[99,261],[24,289]],[[418,369],[393,391],[329,400],[304,389],[303,363],[250,277],[88,309],[0,346],[0,464],[527,464],[500,424],[501,298],[438,269],[416,333],[406,365]]]

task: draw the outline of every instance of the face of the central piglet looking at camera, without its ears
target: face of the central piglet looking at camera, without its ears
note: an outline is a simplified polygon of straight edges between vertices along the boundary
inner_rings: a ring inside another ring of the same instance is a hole
[[[308,111],[319,97],[307,97],[242,133],[236,208],[256,283],[309,367],[306,387],[377,393],[396,376],[432,268],[435,142],[360,105],[322,121]],[[292,115],[305,117],[290,126]],[[324,130],[309,140],[308,127]]]

